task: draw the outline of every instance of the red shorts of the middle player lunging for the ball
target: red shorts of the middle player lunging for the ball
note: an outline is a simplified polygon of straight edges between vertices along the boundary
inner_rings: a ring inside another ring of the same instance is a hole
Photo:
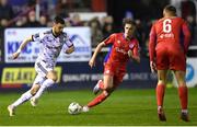
[[[114,84],[119,84],[123,82],[124,76],[126,73],[125,67],[119,67],[117,65],[105,64],[104,65],[104,74],[111,74],[114,80]]]

